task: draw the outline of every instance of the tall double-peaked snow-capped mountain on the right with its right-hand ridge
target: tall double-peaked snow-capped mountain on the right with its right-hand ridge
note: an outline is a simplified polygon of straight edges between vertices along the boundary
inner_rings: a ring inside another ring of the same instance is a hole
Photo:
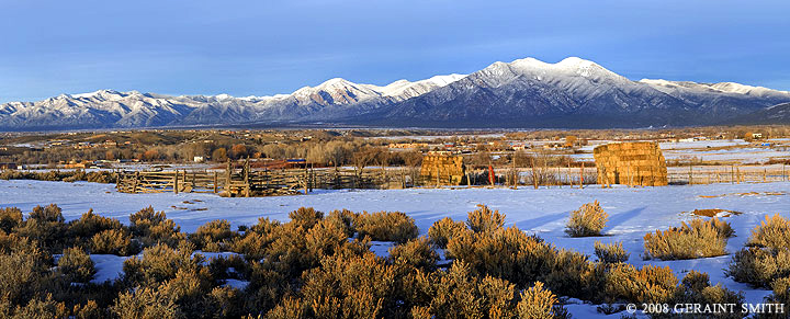
[[[576,57],[556,64],[526,58],[495,62],[365,121],[467,127],[706,125],[788,101],[789,93],[765,88],[631,81]]]

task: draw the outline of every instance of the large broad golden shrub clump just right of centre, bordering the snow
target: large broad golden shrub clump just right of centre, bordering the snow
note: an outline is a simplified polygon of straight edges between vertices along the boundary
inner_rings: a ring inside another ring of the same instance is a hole
[[[492,275],[521,287],[554,264],[556,250],[516,227],[495,232],[464,232],[450,239],[448,258],[469,263],[473,273]]]

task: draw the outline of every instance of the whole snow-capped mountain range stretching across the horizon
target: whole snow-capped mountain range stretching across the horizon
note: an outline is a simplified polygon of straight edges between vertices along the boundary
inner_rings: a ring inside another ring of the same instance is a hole
[[[783,104],[785,103],[785,104]],[[101,90],[0,104],[1,130],[238,125],[656,127],[790,123],[790,92],[733,82],[632,81],[580,58],[494,62],[387,86],[330,79],[291,94],[170,96]]]

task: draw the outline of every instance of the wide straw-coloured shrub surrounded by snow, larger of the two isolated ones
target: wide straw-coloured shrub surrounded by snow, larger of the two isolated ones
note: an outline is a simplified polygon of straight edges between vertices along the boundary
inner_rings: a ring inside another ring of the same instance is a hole
[[[682,260],[726,254],[725,233],[732,233],[732,228],[726,223],[719,223],[716,218],[710,221],[696,219],[689,224],[682,223],[680,228],[646,233],[645,257]]]

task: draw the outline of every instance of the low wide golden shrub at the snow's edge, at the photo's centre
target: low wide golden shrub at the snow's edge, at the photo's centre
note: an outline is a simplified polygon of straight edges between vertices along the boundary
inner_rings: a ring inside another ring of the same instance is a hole
[[[400,212],[363,212],[354,220],[358,237],[377,241],[407,242],[417,238],[419,229],[414,218]]]

